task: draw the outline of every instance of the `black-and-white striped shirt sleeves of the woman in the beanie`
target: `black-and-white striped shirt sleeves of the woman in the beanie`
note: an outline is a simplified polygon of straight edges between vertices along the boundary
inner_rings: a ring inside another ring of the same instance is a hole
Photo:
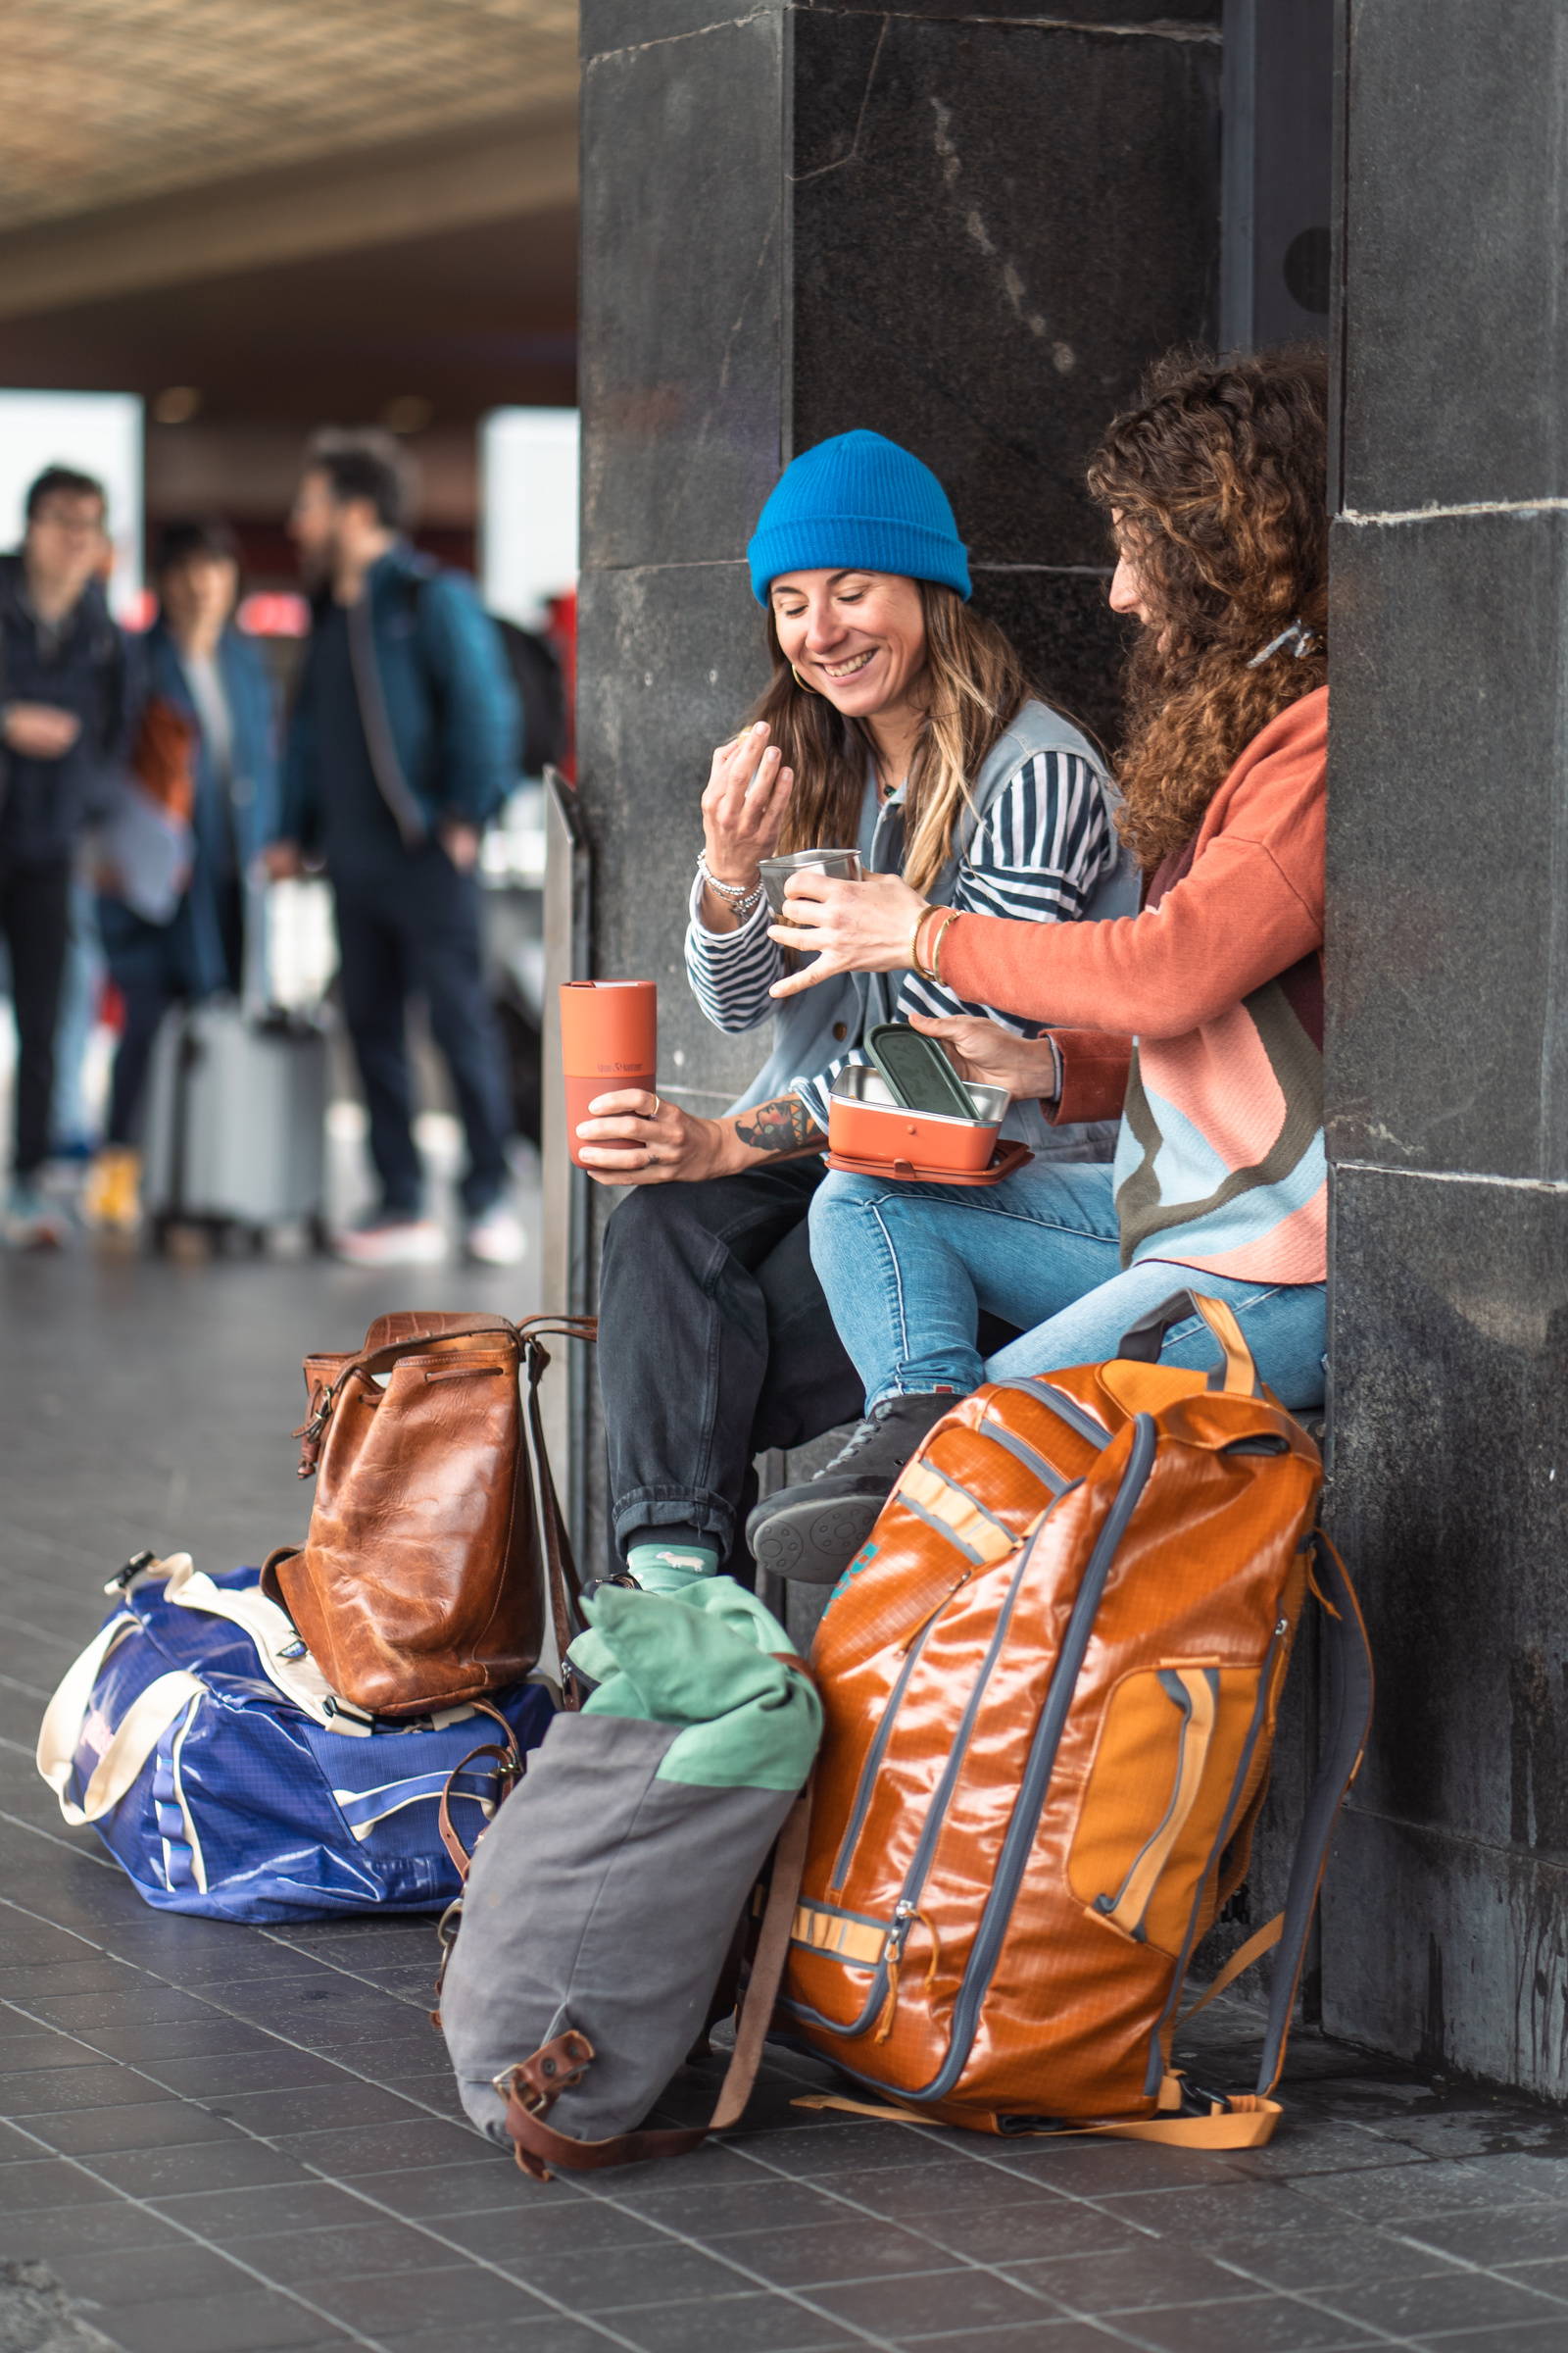
[[[1117,840],[1100,781],[1074,753],[1034,753],[992,800],[983,824],[959,859],[950,904],[969,915],[1004,915],[1013,922],[1072,922],[1117,861]],[[766,901],[733,932],[710,932],[703,925],[703,882],[691,889],[691,925],[686,929],[686,976],[691,991],[722,1031],[752,1031],[776,1009],[769,988],[783,979],[785,951],[769,939]],[[987,1014],[1004,1028],[1032,1038],[1037,1021],[976,1005],[926,981],[903,974],[896,1014]],[[853,1049],[825,1071],[790,1080],[816,1125],[827,1129],[827,1094],[849,1064],[867,1061]]]

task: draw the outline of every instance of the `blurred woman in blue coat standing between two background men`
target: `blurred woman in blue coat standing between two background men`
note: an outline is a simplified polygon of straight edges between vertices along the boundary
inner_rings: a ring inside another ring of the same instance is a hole
[[[125,1002],[108,1134],[87,1179],[89,1224],[134,1231],[139,1113],[169,1005],[240,995],[261,939],[254,887],[277,831],[277,725],[261,652],[235,621],[240,555],[223,522],[172,522],[153,555],[158,621],[143,652],[134,781],[179,826],[181,880],[165,913],[106,875],[99,929]],[[113,849],[110,849],[113,859]]]

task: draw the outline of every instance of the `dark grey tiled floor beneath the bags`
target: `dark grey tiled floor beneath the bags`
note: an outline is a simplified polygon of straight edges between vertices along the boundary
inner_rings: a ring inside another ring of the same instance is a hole
[[[428,1922],[155,1915],[63,1828],[31,1751],[101,1579],[139,1544],[219,1565],[292,1537],[303,1346],[536,1292],[0,1261],[0,2257],[127,2353],[1568,2346],[1542,2111],[1302,2038],[1288,2129],[1220,2160],[825,2120],[780,2059],[726,2146],[541,2188],[458,2120]],[[1197,2057],[1244,2080],[1246,2017]],[[7,2337],[35,2292],[5,2282],[0,2341],[42,2341]]]

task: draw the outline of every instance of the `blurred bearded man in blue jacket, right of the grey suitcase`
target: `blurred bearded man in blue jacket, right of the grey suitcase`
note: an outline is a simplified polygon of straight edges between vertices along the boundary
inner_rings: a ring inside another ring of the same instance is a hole
[[[343,1019],[369,1108],[378,1202],[339,1254],[423,1266],[447,1254],[414,1141],[407,1000],[425,998],[468,1167],[465,1254],[522,1257],[508,1202],[510,1113],[480,962],[480,838],[517,784],[517,696],[475,588],[416,555],[407,473],[381,433],[317,435],[289,518],[313,588],[282,765],[275,878],[327,866]]]

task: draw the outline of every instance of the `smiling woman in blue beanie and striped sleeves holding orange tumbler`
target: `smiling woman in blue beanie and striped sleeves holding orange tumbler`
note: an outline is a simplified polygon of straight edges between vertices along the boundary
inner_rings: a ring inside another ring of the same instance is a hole
[[[752,1459],[860,1412],[806,1233],[835,1073],[865,1061],[877,1021],[978,1009],[929,972],[860,974],[780,1009],[759,859],[858,847],[867,873],[903,873],[929,901],[1037,922],[1135,906],[1103,760],[971,609],[929,466],[879,433],[806,449],[748,565],[773,675],[712,755],[686,972],[724,1031],[778,1016],[773,1052],[722,1120],[621,1092],[578,1127],[592,1174],[630,1191],[604,1233],[597,1355],[616,1544],[656,1591],[745,1574]],[[1056,1158],[1110,1153],[1107,1134],[1030,1111],[1009,1132]],[[905,1419],[884,1435],[912,1452],[933,1414]]]

